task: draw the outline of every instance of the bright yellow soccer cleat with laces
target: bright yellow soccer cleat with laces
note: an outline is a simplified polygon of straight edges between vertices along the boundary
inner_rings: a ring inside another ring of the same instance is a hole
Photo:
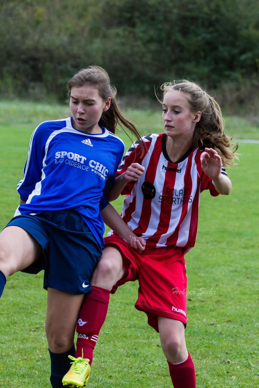
[[[70,388],[86,386],[91,371],[89,359],[83,358],[83,350],[82,357],[78,357],[77,359],[73,356],[68,357],[73,362],[71,362],[70,370],[62,379],[63,385],[68,385]]]

